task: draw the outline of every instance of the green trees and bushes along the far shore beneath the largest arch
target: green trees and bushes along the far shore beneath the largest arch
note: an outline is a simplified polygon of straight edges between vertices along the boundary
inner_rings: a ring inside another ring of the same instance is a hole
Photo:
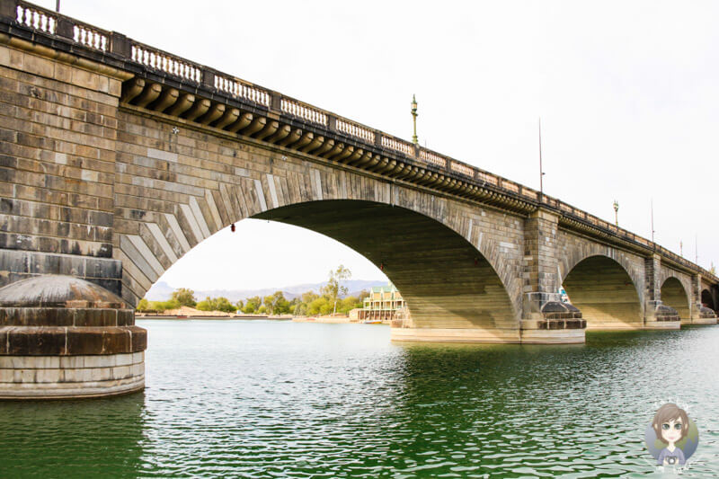
[[[351,278],[349,269],[340,265],[337,270],[330,271],[327,284],[320,293],[307,291],[298,297],[287,299],[282,291],[265,297],[248,297],[245,300],[230,302],[226,297],[206,297],[197,301],[194,291],[179,288],[173,291],[167,301],[148,301],[143,297],[137,310],[141,313],[162,313],[182,306],[190,306],[200,311],[221,311],[224,313],[243,313],[245,315],[330,315],[338,313],[346,315],[351,309],[362,307],[362,301],[369,296],[363,290],[358,297],[347,297],[347,288],[342,281]]]

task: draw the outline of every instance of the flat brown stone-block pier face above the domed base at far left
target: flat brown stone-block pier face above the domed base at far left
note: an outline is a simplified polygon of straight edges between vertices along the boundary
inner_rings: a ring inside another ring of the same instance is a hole
[[[0,286],[72,274],[120,293],[111,259],[120,81],[0,44]]]

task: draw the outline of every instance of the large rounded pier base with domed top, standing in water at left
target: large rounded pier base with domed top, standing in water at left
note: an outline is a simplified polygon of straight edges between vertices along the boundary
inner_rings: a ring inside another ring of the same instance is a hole
[[[78,399],[145,388],[146,331],[110,291],[69,276],[0,288],[0,399]]]

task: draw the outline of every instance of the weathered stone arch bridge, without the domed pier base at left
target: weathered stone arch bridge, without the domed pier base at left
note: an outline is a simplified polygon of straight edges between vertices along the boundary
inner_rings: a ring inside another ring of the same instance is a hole
[[[134,306],[253,217],[374,262],[409,305],[395,340],[716,322],[715,275],[560,200],[120,33],[0,5],[0,285],[70,275]]]

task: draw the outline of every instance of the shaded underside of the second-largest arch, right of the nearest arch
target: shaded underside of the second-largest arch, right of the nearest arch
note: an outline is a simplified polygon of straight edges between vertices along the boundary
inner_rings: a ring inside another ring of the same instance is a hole
[[[607,256],[590,256],[564,279],[564,290],[589,329],[641,327],[642,306],[626,270]]]

